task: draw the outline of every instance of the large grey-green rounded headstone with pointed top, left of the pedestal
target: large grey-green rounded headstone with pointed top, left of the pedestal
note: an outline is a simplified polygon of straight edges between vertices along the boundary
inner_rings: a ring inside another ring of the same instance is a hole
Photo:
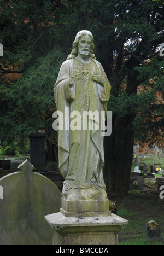
[[[33,168],[25,160],[20,171],[0,179],[0,245],[52,245],[44,216],[60,211],[61,192]]]

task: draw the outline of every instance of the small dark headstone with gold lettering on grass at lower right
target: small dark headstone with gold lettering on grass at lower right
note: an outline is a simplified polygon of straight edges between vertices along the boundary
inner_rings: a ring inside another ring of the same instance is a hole
[[[158,222],[155,222],[154,220],[150,220],[148,223],[145,224],[145,229],[148,236],[146,240],[148,242],[151,242],[153,240],[163,239],[163,237],[161,236],[160,224]]]

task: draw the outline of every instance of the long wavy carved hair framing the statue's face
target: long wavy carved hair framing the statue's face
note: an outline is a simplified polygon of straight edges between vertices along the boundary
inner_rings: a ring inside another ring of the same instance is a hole
[[[75,40],[72,44],[72,52],[71,54],[69,54],[69,56],[67,57],[67,60],[70,60],[70,59],[74,59],[77,55],[78,55],[78,48],[79,48],[79,41],[81,39],[81,37],[83,36],[89,36],[91,38],[91,46],[90,46],[90,49],[89,49],[89,56],[92,58],[92,59],[96,59],[95,58],[95,54],[93,54],[93,49],[94,49],[94,43],[93,43],[93,35],[90,31],[88,30],[81,30],[80,32],[77,33],[77,35],[75,36]]]

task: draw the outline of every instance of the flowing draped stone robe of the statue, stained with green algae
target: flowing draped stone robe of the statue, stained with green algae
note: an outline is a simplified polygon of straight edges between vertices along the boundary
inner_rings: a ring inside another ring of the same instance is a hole
[[[92,75],[99,75],[104,81],[104,87],[92,80]],[[69,87],[69,80],[73,77],[74,84]],[[88,189],[98,184],[106,189],[103,179],[104,150],[101,127],[95,129],[96,118],[87,118],[87,130],[65,130],[69,125],[72,111],[81,115],[83,111],[101,111],[107,113],[111,85],[106,77],[101,63],[95,59],[84,63],[74,58],[62,63],[54,86],[54,96],[57,110],[64,116],[64,130],[58,130],[58,160],[59,170],[71,189]],[[69,107],[69,108],[66,108]],[[68,111],[69,110],[69,113]],[[93,122],[93,129],[89,130],[89,121]],[[66,123],[65,123],[66,122]],[[100,125],[99,125],[100,126]]]

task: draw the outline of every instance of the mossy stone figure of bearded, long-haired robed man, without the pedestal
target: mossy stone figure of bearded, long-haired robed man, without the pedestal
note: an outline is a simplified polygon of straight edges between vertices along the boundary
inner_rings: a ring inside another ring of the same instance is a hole
[[[83,111],[107,113],[111,85],[101,63],[91,53],[92,34],[80,31],[73,46],[54,86],[57,110],[65,114],[65,107],[69,107],[70,113],[78,111],[81,117]],[[76,193],[74,200],[107,199],[103,179],[104,137],[101,129],[94,129],[94,118],[92,121],[92,130],[58,130],[59,170],[65,179],[62,197],[66,200],[72,200],[72,193]]]

